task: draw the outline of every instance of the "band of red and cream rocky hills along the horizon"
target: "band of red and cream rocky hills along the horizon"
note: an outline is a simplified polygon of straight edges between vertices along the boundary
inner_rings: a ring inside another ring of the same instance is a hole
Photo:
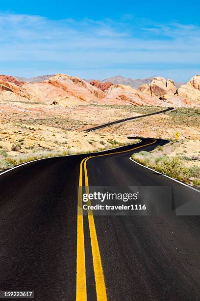
[[[0,100],[23,99],[68,106],[77,104],[151,105],[160,107],[200,106],[200,76],[194,76],[179,88],[171,79],[155,77],[140,88],[112,82],[91,81],[66,74],[42,76],[32,82],[12,76],[0,76]]]

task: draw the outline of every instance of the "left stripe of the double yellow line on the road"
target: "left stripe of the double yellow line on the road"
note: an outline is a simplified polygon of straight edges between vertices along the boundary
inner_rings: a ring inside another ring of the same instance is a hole
[[[87,300],[86,271],[85,271],[85,244],[83,230],[82,209],[82,174],[83,159],[80,163],[79,185],[78,185],[78,209],[77,209],[77,257],[76,257],[76,301]]]

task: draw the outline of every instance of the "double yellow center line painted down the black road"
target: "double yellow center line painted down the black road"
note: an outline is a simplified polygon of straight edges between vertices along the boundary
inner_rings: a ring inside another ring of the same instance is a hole
[[[142,145],[131,150],[133,151],[151,144],[154,144],[157,140],[151,143]],[[84,228],[83,228],[83,209],[82,209],[82,185],[83,185],[83,163],[84,163],[84,176],[85,176],[85,192],[89,193],[89,182],[87,174],[87,161],[93,157],[107,156],[116,153],[122,153],[127,151],[116,151],[107,154],[100,154],[96,156],[89,156],[84,158],[80,162],[79,172],[79,187],[78,187],[78,208],[77,208],[77,257],[76,257],[76,301],[87,300],[87,285],[86,285],[86,269],[85,269],[85,243],[84,243]],[[90,204],[90,200],[88,201]],[[100,249],[97,239],[97,233],[95,228],[95,221],[92,210],[88,210],[88,223],[90,231],[90,241],[92,247],[93,267],[95,274],[96,293],[98,301],[107,301],[105,281],[103,276],[103,269],[101,265]]]

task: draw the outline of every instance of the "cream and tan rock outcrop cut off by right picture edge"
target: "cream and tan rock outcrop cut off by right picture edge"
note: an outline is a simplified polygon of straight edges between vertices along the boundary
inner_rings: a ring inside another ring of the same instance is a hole
[[[177,93],[179,97],[183,97],[193,102],[200,102],[200,75],[195,75],[186,84],[178,88]]]

